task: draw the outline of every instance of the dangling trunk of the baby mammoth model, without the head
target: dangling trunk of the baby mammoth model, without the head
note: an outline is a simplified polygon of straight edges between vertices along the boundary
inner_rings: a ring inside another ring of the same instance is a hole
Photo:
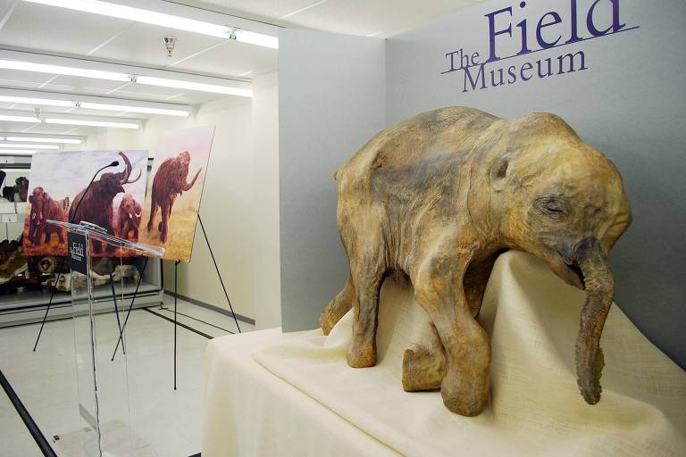
[[[603,351],[600,336],[615,295],[615,278],[598,239],[583,240],[577,247],[575,261],[583,273],[586,303],[581,310],[581,324],[576,341],[577,384],[586,403],[600,400],[600,376]]]

